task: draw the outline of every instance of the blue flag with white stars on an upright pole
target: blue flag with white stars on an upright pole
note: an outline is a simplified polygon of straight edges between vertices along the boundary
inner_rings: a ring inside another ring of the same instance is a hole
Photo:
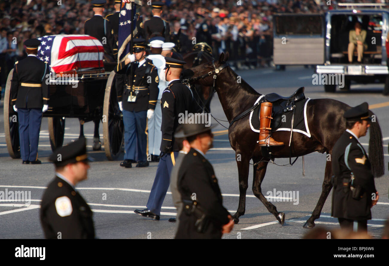
[[[136,5],[142,5],[141,0],[122,0],[121,2],[119,15],[119,39],[117,42],[117,47],[119,48],[118,62],[120,62],[120,60],[130,52],[130,43],[132,38],[132,36],[130,36],[131,25],[133,27],[133,34],[137,34],[136,5],[134,5],[134,17],[131,19],[131,2],[135,2]]]

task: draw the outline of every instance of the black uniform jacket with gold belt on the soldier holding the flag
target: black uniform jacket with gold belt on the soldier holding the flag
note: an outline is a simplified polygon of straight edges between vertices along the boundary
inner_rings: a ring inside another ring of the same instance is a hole
[[[135,61],[137,62],[137,61]],[[146,62],[142,66],[133,67],[133,75],[131,72],[131,64],[125,64],[124,61],[117,65],[116,74],[116,92],[117,100],[122,102],[123,109],[127,111],[140,112],[148,109],[155,109],[158,98],[158,72],[157,68],[152,64],[150,59],[146,58]],[[150,73],[150,75],[148,74]],[[134,90],[131,88],[131,76],[133,76]],[[150,78],[149,78],[150,76]],[[148,83],[150,82],[150,83]],[[137,94],[136,102],[129,102],[128,97]]]

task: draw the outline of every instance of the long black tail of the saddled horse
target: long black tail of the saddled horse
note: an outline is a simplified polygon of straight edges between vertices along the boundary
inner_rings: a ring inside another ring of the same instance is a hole
[[[377,116],[370,110],[369,115],[373,119],[370,123],[369,160],[374,177],[380,177],[385,173],[381,127]]]

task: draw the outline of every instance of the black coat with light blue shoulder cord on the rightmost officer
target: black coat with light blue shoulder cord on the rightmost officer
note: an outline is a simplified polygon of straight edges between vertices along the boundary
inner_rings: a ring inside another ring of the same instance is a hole
[[[332,171],[337,177],[337,185],[332,195],[331,215],[351,220],[371,219],[371,193],[377,190],[371,173],[370,161],[362,145],[347,131],[343,132],[333,148]],[[353,199],[350,189],[347,189],[347,192],[343,191],[343,178],[349,181],[351,172],[355,178],[353,187],[361,186],[362,188],[360,199]]]

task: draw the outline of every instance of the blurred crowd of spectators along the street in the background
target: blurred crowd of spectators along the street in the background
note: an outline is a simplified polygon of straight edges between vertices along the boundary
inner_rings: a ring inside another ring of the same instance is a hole
[[[214,55],[229,51],[235,67],[266,66],[272,55],[272,15],[275,13],[320,13],[336,4],[329,0],[163,0],[162,18],[173,28],[174,22],[188,25],[189,39],[196,36],[202,14],[212,28]],[[381,2],[360,0],[353,2]],[[143,20],[152,16],[147,0],[137,9]],[[350,2],[340,0],[337,2]],[[115,12],[108,0],[105,15]],[[29,38],[54,34],[84,34],[84,21],[93,16],[88,0],[2,0],[0,2],[1,86],[15,61],[26,56],[23,42]],[[247,61],[250,63],[240,63]]]

